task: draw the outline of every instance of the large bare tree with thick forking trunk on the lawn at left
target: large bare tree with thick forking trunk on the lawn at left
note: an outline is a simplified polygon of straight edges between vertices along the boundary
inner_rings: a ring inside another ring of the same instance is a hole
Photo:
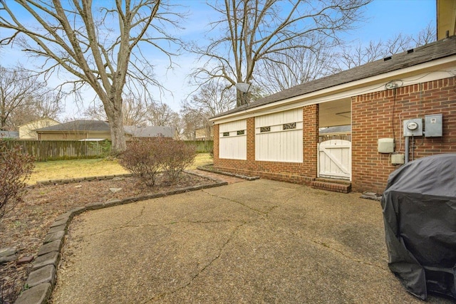
[[[172,18],[180,15],[162,0],[95,2],[104,7],[92,0],[21,0],[16,1],[21,9],[12,9],[10,1],[0,0],[0,27],[13,31],[0,42],[16,41],[31,56],[44,58],[46,76],[61,69],[71,73],[74,79],[64,83],[75,91],[90,85],[103,103],[116,154],[125,150],[124,87],[157,85],[140,45],[171,58],[169,44],[179,41],[166,26],[177,26]]]

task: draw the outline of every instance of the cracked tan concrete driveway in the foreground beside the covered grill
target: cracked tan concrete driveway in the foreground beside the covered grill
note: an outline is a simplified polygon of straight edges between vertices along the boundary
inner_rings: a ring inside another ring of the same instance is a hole
[[[387,263],[378,201],[259,179],[77,216],[52,303],[422,303]]]

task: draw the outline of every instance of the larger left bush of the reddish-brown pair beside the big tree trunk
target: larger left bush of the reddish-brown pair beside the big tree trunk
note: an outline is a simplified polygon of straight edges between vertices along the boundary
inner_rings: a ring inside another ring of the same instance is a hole
[[[119,155],[119,164],[152,187],[162,167],[161,159],[162,151],[155,140],[133,140]]]

